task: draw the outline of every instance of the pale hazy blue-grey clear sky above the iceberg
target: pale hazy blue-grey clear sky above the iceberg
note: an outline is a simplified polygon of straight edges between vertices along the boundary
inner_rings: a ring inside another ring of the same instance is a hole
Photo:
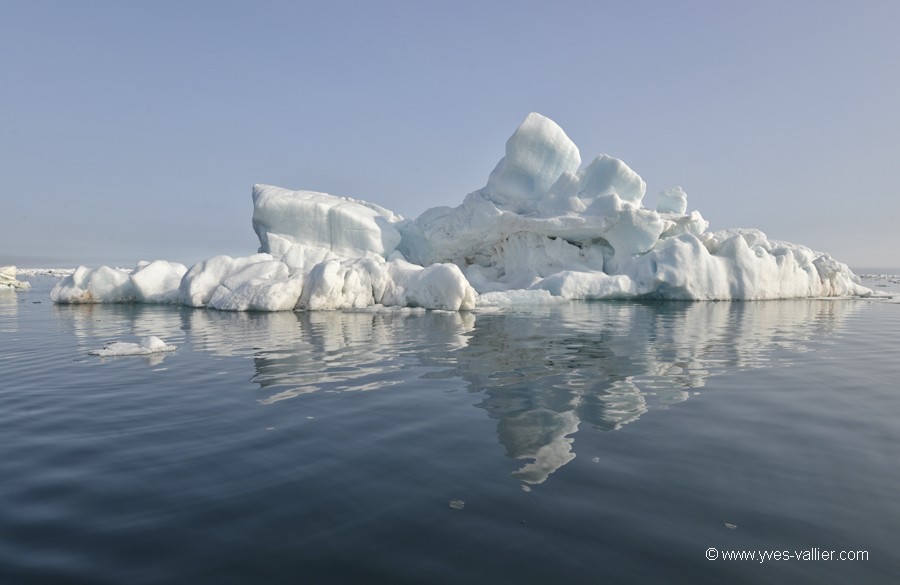
[[[0,264],[256,251],[255,183],[407,217],[525,116],[711,229],[900,265],[900,2],[0,3]]]

